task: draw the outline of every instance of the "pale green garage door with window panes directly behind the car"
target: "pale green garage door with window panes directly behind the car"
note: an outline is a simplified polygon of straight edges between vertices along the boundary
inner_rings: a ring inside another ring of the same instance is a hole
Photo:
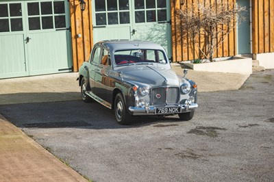
[[[169,0],[92,1],[93,42],[139,39],[161,44],[171,57]]]

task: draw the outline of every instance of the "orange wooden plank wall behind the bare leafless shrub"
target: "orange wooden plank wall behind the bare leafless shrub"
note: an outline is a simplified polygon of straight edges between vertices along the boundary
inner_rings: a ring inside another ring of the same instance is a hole
[[[236,0],[222,0],[222,2],[233,2]],[[272,0],[271,0],[272,1]],[[180,0],[171,0],[171,31],[173,42],[173,62],[180,62],[186,60],[195,60],[201,57],[201,51],[194,47],[194,44],[188,39],[183,38],[182,28],[180,27],[180,20],[175,16],[176,10],[187,8],[192,9],[193,3],[216,3],[216,0],[185,0],[184,5],[180,3]],[[225,29],[225,26],[222,27]],[[203,44],[204,38],[199,37],[199,44]],[[234,29],[221,44],[221,47],[216,50],[214,57],[225,57],[236,55],[236,30]]]

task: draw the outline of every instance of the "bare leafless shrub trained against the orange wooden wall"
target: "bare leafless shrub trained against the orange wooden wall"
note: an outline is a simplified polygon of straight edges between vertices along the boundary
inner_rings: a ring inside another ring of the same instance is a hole
[[[214,52],[234,30],[237,21],[245,20],[241,16],[245,10],[245,7],[236,6],[233,2],[218,0],[214,3],[193,3],[188,9],[177,9],[176,16],[181,20],[182,37],[199,48],[200,59],[212,62]],[[199,38],[204,38],[203,44]]]

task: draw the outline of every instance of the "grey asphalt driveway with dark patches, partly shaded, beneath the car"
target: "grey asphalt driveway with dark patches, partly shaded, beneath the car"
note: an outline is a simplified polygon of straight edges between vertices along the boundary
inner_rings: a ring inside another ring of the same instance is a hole
[[[195,117],[118,125],[99,103],[0,105],[36,142],[93,181],[273,181],[274,70],[240,90],[200,92]]]

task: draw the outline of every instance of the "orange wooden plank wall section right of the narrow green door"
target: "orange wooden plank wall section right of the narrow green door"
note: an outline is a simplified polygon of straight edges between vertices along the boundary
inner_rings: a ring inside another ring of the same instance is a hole
[[[274,1],[252,1],[252,52],[274,52]]]

